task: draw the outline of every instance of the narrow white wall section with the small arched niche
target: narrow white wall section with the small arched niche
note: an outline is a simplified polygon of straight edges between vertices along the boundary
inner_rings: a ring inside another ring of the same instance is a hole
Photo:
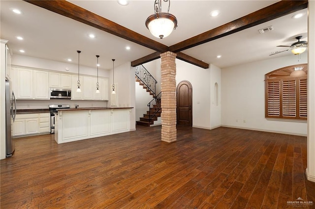
[[[215,84],[218,84],[218,102]],[[213,64],[210,65],[210,129],[221,126],[221,69]]]

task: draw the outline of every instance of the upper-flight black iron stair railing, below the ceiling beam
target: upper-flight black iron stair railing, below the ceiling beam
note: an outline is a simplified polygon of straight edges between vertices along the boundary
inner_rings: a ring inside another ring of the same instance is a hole
[[[151,75],[151,73],[143,65],[138,65],[135,66],[135,75],[150,91],[152,91],[153,96],[155,96],[158,81]]]

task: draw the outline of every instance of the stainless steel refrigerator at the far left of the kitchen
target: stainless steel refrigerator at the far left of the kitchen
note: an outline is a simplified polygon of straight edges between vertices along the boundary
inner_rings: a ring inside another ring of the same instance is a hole
[[[6,157],[11,157],[14,152],[14,141],[12,140],[11,126],[16,116],[16,100],[12,91],[10,80],[5,78],[5,151]]]

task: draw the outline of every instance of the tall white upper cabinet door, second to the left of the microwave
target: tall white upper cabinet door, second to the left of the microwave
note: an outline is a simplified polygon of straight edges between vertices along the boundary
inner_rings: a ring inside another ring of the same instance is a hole
[[[18,68],[16,73],[16,99],[33,99],[33,71]]]

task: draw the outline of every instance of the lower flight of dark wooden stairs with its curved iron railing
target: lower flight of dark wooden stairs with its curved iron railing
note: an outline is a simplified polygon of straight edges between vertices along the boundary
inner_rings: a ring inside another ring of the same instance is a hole
[[[140,121],[136,121],[137,125],[140,126],[150,126],[154,124],[154,121],[161,117],[161,93],[159,93],[150,103],[148,103],[149,111],[143,114]]]

